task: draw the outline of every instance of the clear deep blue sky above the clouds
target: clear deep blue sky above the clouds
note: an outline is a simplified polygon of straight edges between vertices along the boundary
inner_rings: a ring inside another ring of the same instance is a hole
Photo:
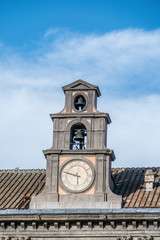
[[[35,44],[50,28],[103,34],[126,28],[159,28],[159,0],[1,0],[0,40]]]

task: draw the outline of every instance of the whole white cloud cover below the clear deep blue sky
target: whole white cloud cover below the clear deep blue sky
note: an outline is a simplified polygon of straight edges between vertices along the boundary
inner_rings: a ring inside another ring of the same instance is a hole
[[[50,29],[32,52],[1,45],[1,167],[45,167],[41,150],[52,143],[48,114],[63,108],[61,86],[79,78],[102,91],[98,105],[113,120],[108,144],[115,166],[157,166],[159,42],[160,30],[98,36]]]

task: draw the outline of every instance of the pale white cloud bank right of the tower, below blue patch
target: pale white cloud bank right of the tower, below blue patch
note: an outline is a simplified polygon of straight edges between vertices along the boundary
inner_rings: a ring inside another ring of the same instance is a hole
[[[108,99],[106,103],[113,121],[108,127],[108,146],[117,158],[113,165],[158,167],[160,96]]]

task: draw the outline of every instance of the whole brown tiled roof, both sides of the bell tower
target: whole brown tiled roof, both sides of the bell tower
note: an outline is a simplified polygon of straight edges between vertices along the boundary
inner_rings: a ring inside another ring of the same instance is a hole
[[[160,168],[155,175],[152,191],[145,190],[147,168],[113,168],[114,193],[122,195],[124,208],[160,208]],[[0,209],[28,208],[31,196],[45,185],[46,171],[0,170]]]

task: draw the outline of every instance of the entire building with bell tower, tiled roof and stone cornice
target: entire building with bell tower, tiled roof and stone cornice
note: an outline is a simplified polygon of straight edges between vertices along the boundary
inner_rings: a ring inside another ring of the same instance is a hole
[[[111,169],[99,88],[77,80],[63,91],[46,170],[0,173],[1,239],[160,239],[160,169]]]

